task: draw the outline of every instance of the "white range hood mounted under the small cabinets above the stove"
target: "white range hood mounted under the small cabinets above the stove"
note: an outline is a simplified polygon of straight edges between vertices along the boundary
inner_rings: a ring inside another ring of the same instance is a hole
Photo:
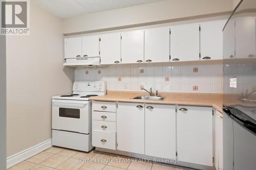
[[[104,67],[100,65],[100,57],[67,58],[63,65],[69,67]]]

